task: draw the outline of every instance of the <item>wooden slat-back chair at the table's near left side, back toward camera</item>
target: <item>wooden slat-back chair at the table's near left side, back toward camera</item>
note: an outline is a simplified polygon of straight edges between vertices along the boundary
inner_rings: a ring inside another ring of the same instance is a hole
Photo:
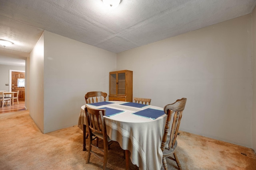
[[[103,115],[105,115],[105,109],[92,109],[88,106],[84,108],[86,114],[86,120],[88,122],[89,129],[89,149],[88,149],[88,157],[87,164],[90,162],[91,153],[97,156],[103,162],[103,170],[106,169],[107,159],[108,159],[108,148],[109,145],[113,142],[107,135],[106,125],[104,121]],[[92,143],[93,140],[96,139],[96,145]],[[100,149],[98,147],[98,139],[103,140],[104,149]],[[104,156],[100,156],[98,153],[92,151],[92,148],[100,151]]]

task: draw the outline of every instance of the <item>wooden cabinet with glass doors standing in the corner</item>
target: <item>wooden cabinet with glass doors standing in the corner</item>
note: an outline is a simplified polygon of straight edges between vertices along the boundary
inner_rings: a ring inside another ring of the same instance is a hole
[[[108,100],[132,102],[132,71],[120,70],[109,73]]]

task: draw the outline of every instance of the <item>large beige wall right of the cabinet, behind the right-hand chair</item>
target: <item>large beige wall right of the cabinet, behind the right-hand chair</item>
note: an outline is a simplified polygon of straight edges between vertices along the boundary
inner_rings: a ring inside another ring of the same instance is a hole
[[[251,15],[117,54],[133,96],[187,104],[180,130],[252,147]]]

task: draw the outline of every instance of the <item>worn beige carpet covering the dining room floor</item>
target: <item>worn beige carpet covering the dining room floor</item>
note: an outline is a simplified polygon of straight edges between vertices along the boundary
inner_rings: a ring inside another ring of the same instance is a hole
[[[101,147],[101,146],[100,146]],[[183,170],[256,170],[252,149],[180,131],[177,155]],[[42,134],[28,111],[0,114],[1,170],[100,170],[102,162],[82,151],[77,126]],[[169,169],[178,169],[168,160]],[[107,168],[125,169],[123,150],[111,145]],[[136,166],[130,163],[130,169]],[[161,168],[163,170],[163,167]]]

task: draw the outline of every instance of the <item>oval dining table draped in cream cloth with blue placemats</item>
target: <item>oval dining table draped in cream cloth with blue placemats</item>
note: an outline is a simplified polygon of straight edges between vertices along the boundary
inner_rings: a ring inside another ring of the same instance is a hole
[[[129,158],[127,151],[130,151],[132,164],[138,166],[140,170],[160,170],[161,142],[166,121],[166,114],[162,107],[122,101],[106,101],[81,106],[78,127],[84,131],[84,150],[87,125],[84,107],[86,106],[106,109],[104,121],[107,135],[126,150],[126,158]],[[129,166],[127,163],[126,160],[126,169]]]

